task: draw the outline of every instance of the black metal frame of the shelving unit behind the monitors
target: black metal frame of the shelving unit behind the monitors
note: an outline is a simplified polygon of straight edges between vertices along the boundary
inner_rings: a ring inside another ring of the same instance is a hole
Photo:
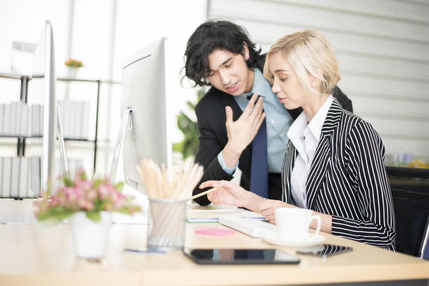
[[[21,80],[21,91],[20,91],[20,100],[23,103],[27,103],[27,87],[28,82],[32,79],[31,75],[23,75],[23,74],[2,74],[0,73],[0,77],[4,78],[13,78]],[[80,81],[80,82],[94,82],[97,83],[97,109],[96,109],[96,116],[95,116],[95,138],[94,140],[87,140],[87,139],[69,139],[64,138],[64,141],[81,141],[81,142],[93,142],[94,143],[94,171],[96,170],[96,162],[97,162],[97,133],[98,133],[98,111],[99,111],[99,104],[100,104],[100,84],[101,83],[118,83],[115,81],[109,81],[109,80],[84,80],[84,79],[74,79],[74,78],[63,78],[58,77],[57,80],[59,81]],[[1,137],[9,137],[9,138],[17,138],[17,155],[18,156],[24,156],[25,155],[25,139],[28,138],[26,136],[14,136],[14,135],[0,135]],[[39,136],[40,137],[40,136]],[[37,137],[33,137],[37,138]]]

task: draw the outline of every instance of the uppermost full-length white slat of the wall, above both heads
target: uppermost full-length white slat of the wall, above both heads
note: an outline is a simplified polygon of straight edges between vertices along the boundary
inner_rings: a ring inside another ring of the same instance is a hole
[[[346,31],[383,38],[429,42],[428,26],[425,23],[411,23],[261,0],[214,0],[210,3],[210,15],[214,17],[253,19],[273,24],[307,26],[316,30]]]

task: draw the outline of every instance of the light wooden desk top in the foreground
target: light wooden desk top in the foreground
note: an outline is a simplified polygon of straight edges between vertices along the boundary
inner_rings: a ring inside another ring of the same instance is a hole
[[[0,200],[0,214],[32,212],[31,201]],[[195,234],[218,223],[187,223],[187,247],[275,248],[241,232],[216,237]],[[0,225],[0,285],[291,285],[429,279],[429,262],[324,234],[326,243],[353,247],[327,259],[297,255],[299,265],[202,266],[181,251],[122,252],[144,247],[147,225],[112,225],[101,262],[78,259],[68,225]],[[295,249],[283,248],[295,254]],[[425,282],[427,285],[427,282]]]

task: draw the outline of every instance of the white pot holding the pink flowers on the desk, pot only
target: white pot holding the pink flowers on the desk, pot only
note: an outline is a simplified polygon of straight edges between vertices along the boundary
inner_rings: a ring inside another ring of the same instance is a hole
[[[69,218],[76,256],[101,258],[106,252],[112,212],[100,212],[98,221],[86,217],[85,212],[76,212]]]

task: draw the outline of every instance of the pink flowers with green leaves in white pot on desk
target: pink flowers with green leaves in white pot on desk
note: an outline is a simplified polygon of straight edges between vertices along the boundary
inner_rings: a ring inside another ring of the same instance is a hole
[[[60,221],[68,218],[76,255],[82,258],[104,256],[112,212],[133,215],[141,208],[133,204],[133,197],[122,194],[124,182],[113,186],[108,179],[88,179],[78,170],[72,179],[62,176],[63,186],[52,196],[46,192],[36,201],[35,215],[39,221]]]

